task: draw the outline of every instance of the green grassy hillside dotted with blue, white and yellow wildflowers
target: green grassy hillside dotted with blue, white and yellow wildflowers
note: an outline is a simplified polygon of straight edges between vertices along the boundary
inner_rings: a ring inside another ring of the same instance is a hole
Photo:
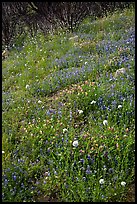
[[[2,62],[3,202],[124,201],[135,179],[135,11],[18,42]]]

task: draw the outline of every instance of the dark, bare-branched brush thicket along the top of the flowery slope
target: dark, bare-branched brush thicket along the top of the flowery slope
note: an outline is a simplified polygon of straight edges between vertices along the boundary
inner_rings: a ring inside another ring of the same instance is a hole
[[[131,4],[134,2],[2,2],[2,44],[12,44],[26,26],[31,34],[59,27],[74,32],[86,16],[103,17]]]

